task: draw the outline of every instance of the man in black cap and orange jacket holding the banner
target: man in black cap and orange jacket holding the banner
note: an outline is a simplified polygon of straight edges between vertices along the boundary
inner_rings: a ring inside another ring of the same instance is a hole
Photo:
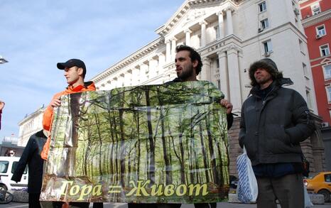
[[[53,120],[53,108],[61,105],[60,97],[64,94],[72,94],[76,92],[86,92],[95,91],[95,86],[93,82],[84,82],[86,67],[85,63],[79,59],[70,59],[67,62],[58,62],[58,69],[64,70],[65,79],[67,80],[67,88],[63,92],[58,92],[54,95],[53,99],[50,101],[47,109],[43,114],[43,128],[46,131],[50,131]],[[50,136],[43,146],[43,151],[41,152],[41,158],[47,160],[48,151],[50,148]],[[54,207],[62,207],[63,202],[53,202]],[[89,207],[88,202],[72,202],[73,207]],[[94,207],[102,207],[102,203],[94,203]]]

